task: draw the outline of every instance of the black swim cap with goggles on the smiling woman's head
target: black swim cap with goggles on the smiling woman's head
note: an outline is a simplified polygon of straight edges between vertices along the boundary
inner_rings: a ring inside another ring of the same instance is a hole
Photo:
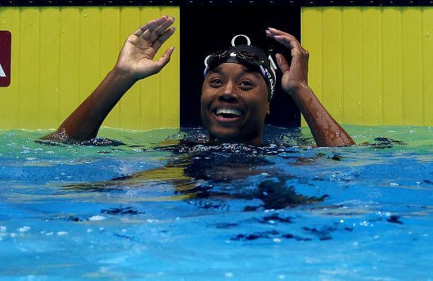
[[[258,71],[262,74],[267,85],[267,99],[271,101],[275,92],[275,70],[272,68],[270,59],[265,55],[260,48],[251,45],[238,45],[236,47],[229,47],[221,52],[214,52],[209,55],[204,64],[204,77],[206,77],[209,70],[218,67],[219,64],[224,62],[232,62],[235,64],[243,64],[249,69]]]

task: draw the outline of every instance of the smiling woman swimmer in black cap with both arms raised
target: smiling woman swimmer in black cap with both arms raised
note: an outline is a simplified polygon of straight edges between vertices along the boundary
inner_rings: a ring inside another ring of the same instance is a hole
[[[170,61],[174,47],[161,58],[155,54],[175,28],[173,17],[162,16],[129,35],[115,67],[56,132],[42,139],[57,142],[84,142],[96,137],[110,110],[132,85],[158,73]],[[275,28],[265,35],[287,47],[291,64],[277,54],[282,71],[282,88],[293,98],[310,127],[318,147],[353,145],[347,132],[330,116],[308,86],[308,52],[294,38]],[[259,146],[270,100],[275,87],[275,74],[262,50],[252,46],[230,47],[209,56],[204,69],[200,113],[209,142],[241,142]]]

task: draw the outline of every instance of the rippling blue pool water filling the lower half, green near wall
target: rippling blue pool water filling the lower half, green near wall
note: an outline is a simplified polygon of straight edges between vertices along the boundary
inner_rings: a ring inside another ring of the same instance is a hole
[[[345,129],[0,132],[0,280],[433,280],[432,128]]]

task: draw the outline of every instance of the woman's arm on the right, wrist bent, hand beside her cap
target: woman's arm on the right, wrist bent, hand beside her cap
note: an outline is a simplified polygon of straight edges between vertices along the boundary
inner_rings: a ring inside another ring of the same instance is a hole
[[[301,110],[318,147],[353,145],[350,135],[325,110],[308,86],[308,52],[289,33],[268,28],[266,35],[291,50],[291,64],[282,54],[276,55],[278,67],[283,73],[282,88]]]

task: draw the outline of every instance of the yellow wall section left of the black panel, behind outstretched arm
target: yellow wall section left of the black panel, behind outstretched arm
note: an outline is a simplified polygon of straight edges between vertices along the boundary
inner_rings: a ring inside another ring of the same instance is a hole
[[[0,88],[0,129],[58,127],[112,69],[127,36],[164,14],[178,17],[179,9],[0,7],[1,29],[12,34],[11,85]],[[178,52],[179,33],[165,46],[171,45]],[[137,130],[178,127],[176,52],[161,74],[134,85],[103,125]]]

